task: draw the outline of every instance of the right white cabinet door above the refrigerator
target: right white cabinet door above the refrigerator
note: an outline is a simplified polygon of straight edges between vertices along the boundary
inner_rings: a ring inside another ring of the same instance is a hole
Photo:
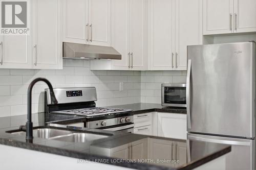
[[[234,0],[234,32],[256,31],[255,8],[255,0]]]

